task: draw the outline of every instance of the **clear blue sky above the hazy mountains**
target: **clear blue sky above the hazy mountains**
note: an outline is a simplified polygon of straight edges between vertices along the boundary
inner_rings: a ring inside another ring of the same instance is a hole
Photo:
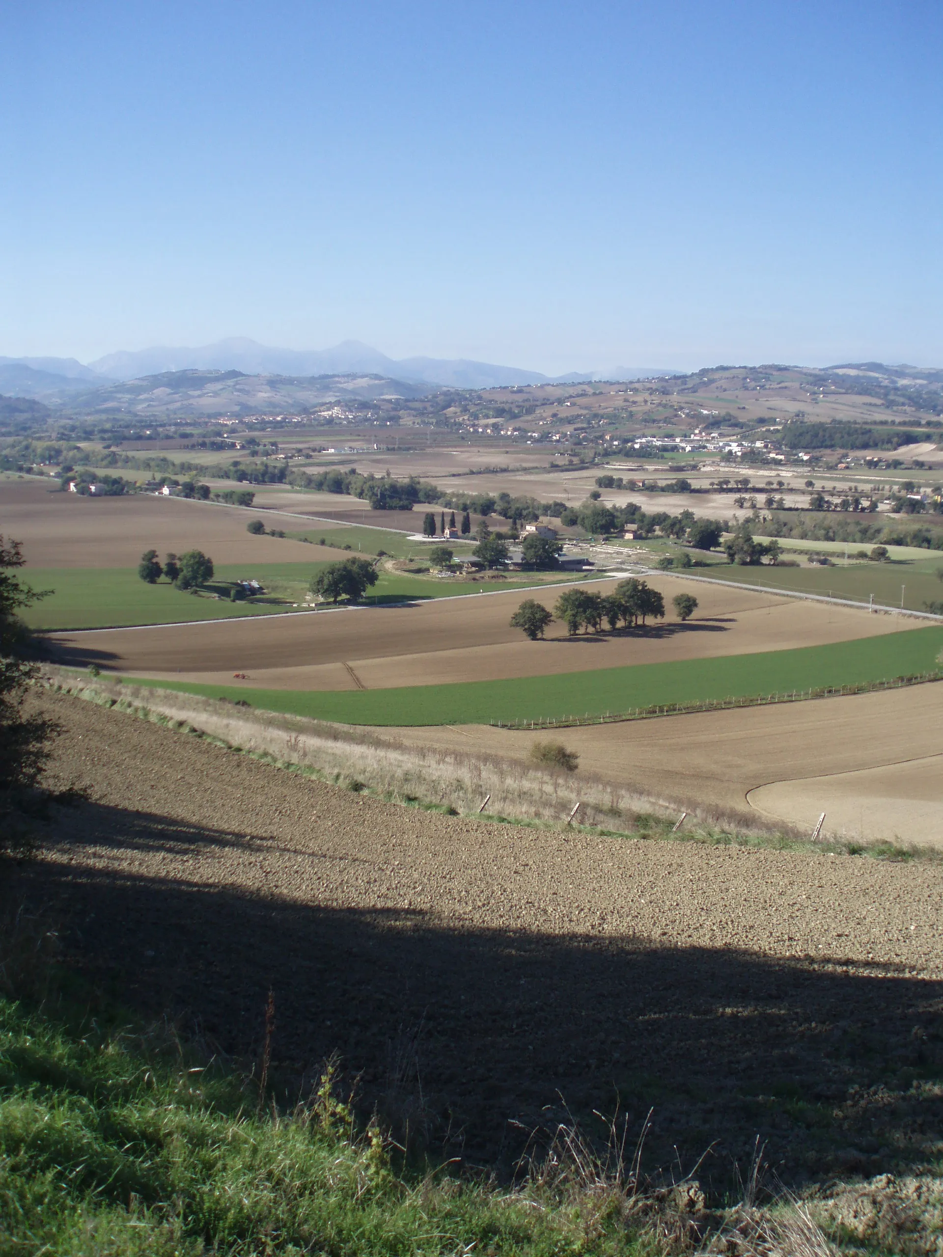
[[[940,0],[6,0],[0,102],[0,354],[943,366]]]

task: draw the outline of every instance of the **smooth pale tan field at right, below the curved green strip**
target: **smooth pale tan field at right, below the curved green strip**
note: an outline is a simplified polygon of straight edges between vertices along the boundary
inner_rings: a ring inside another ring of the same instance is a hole
[[[487,750],[526,762],[533,734],[383,729],[410,745]],[[943,684],[734,711],[563,729],[580,764],[664,799],[866,841],[943,847]]]

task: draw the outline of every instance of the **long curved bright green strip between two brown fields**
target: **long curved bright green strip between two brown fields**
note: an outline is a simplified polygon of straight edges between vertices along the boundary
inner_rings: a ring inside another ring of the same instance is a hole
[[[539,646],[536,649],[539,650]],[[156,685],[206,698],[244,699],[263,710],[343,724],[488,724],[490,720],[563,719],[660,703],[858,685],[929,671],[937,666],[940,652],[943,627],[934,625],[801,650],[389,690],[258,690],[186,681],[127,680],[130,684]]]

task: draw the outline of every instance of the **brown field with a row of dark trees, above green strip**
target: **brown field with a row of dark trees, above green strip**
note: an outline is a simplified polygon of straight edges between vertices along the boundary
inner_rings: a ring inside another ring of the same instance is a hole
[[[612,583],[593,588],[607,591]],[[546,641],[527,641],[509,627],[510,616],[526,596],[552,606],[560,591],[548,588],[410,607],[50,634],[48,641],[59,662],[98,662],[136,676],[230,684],[233,672],[246,672],[245,684],[256,688],[345,690],[355,686],[346,665],[367,689],[383,689],[788,650],[913,627],[912,621],[895,616],[869,616],[736,586],[695,585],[669,576],[653,583],[669,605],[674,593],[693,592],[699,601],[694,618],[681,625],[669,615],[644,635],[580,634],[575,639],[567,637],[562,625],[552,625]]]

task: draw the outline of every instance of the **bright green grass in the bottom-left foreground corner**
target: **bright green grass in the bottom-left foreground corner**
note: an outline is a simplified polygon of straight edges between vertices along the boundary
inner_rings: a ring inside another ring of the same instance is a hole
[[[0,998],[3,1257],[651,1252],[588,1199],[396,1174],[329,1102],[256,1119],[254,1089],[170,1035],[101,1022]]]

